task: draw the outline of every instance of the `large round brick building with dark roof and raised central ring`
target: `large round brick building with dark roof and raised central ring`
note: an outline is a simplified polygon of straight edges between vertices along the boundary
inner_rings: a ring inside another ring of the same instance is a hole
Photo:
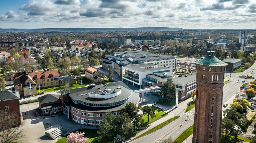
[[[88,126],[100,126],[109,113],[120,114],[126,103],[139,105],[139,94],[123,82],[81,87],[61,92],[67,119]]]

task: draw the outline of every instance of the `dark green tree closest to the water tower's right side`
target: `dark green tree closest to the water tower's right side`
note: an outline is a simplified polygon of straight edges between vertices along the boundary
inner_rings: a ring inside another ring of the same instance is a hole
[[[225,131],[225,139],[235,131],[235,122],[229,118],[222,119],[222,130]]]

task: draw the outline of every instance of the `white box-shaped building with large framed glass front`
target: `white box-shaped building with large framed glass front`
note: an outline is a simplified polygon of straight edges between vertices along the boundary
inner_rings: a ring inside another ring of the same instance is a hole
[[[142,86],[142,79],[146,78],[149,74],[165,74],[172,76],[173,69],[171,67],[159,67],[155,63],[142,63],[134,64],[122,67],[122,81],[127,81],[127,83],[137,85],[140,88]]]

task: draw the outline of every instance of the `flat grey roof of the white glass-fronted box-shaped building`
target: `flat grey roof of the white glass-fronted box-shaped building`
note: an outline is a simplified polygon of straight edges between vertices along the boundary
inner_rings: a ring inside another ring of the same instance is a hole
[[[149,67],[149,66],[157,66],[156,68],[149,68],[149,69],[144,69],[143,67]],[[141,64],[134,64],[134,65],[127,65],[127,66],[123,66],[127,69],[131,69],[131,70],[135,70],[138,72],[145,72],[145,71],[155,71],[155,70],[162,70],[162,69],[170,69],[168,67],[158,67],[157,64],[154,63],[141,63]]]

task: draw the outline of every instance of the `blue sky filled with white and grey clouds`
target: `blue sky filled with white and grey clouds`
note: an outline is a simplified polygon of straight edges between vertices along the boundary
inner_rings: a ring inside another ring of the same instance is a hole
[[[256,28],[256,0],[1,0],[0,28]]]

